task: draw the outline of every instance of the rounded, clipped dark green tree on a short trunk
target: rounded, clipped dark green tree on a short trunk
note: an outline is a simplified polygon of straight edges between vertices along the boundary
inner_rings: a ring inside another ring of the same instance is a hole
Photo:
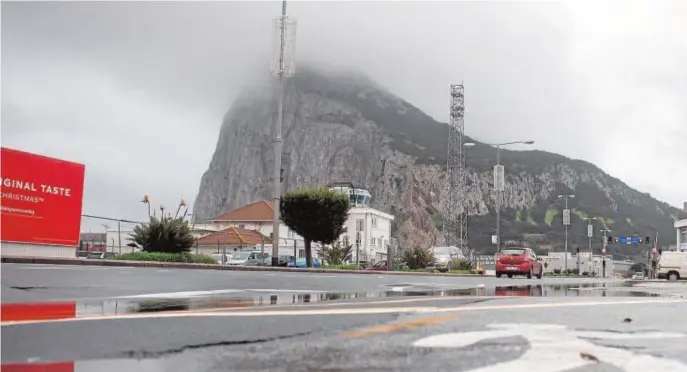
[[[326,188],[299,189],[281,198],[281,219],[305,240],[305,262],[312,267],[312,242],[331,244],[346,229],[348,195]]]

